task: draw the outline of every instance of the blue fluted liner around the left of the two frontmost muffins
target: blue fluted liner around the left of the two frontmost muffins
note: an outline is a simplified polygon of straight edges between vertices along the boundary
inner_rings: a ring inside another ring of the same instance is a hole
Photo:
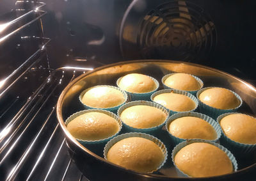
[[[162,162],[162,164],[159,165],[158,168],[156,168],[148,173],[154,173],[154,172],[158,171],[159,169],[161,169],[168,157],[168,152],[167,152],[166,146],[164,145],[164,143],[162,141],[160,141],[156,137],[154,137],[150,134],[145,134],[145,133],[141,133],[141,132],[129,132],[129,133],[125,133],[125,134],[120,134],[119,136],[116,136],[115,138],[111,139],[104,147],[104,151],[103,151],[104,159],[108,160],[108,150],[113,145],[115,145],[115,143],[117,143],[118,141],[121,141],[122,139],[132,138],[132,137],[140,137],[140,138],[149,139],[150,141],[153,141],[154,143],[156,143],[156,145],[159,146],[159,148],[161,148],[161,150],[164,154],[164,161]]]

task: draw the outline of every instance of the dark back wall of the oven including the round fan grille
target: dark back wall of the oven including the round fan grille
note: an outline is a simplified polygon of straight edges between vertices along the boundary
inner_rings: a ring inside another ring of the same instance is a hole
[[[255,1],[44,1],[55,67],[179,59],[254,76]]]

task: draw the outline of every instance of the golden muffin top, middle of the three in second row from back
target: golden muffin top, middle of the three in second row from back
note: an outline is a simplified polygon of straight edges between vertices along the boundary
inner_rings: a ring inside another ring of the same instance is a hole
[[[161,93],[156,95],[153,100],[172,111],[191,111],[196,107],[191,98],[179,93]]]

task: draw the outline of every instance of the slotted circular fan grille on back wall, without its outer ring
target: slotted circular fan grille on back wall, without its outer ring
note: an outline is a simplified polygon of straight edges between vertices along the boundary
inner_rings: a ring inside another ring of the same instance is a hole
[[[170,1],[143,18],[137,45],[143,58],[191,61],[211,54],[216,29],[202,8],[185,1]]]

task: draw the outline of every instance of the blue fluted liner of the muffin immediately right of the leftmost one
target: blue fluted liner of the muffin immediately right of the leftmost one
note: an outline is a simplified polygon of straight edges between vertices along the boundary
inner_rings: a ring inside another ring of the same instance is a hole
[[[157,109],[160,109],[161,111],[163,111],[166,114],[166,119],[160,125],[158,125],[156,127],[150,127],[147,129],[138,129],[138,128],[134,128],[134,127],[127,125],[121,119],[121,117],[120,117],[121,113],[124,111],[124,109],[126,109],[128,107],[138,106],[138,105],[156,107]],[[126,132],[144,132],[144,133],[148,133],[148,134],[153,134],[155,136],[157,136],[157,134],[159,134],[161,132],[161,128],[163,127],[164,123],[168,120],[168,117],[169,117],[169,111],[167,109],[165,109],[163,106],[161,106],[160,104],[156,104],[155,102],[149,102],[149,101],[145,101],[145,100],[137,100],[137,101],[128,102],[127,104],[124,104],[123,106],[121,106],[118,109],[117,114],[118,114],[120,120],[122,121]]]

